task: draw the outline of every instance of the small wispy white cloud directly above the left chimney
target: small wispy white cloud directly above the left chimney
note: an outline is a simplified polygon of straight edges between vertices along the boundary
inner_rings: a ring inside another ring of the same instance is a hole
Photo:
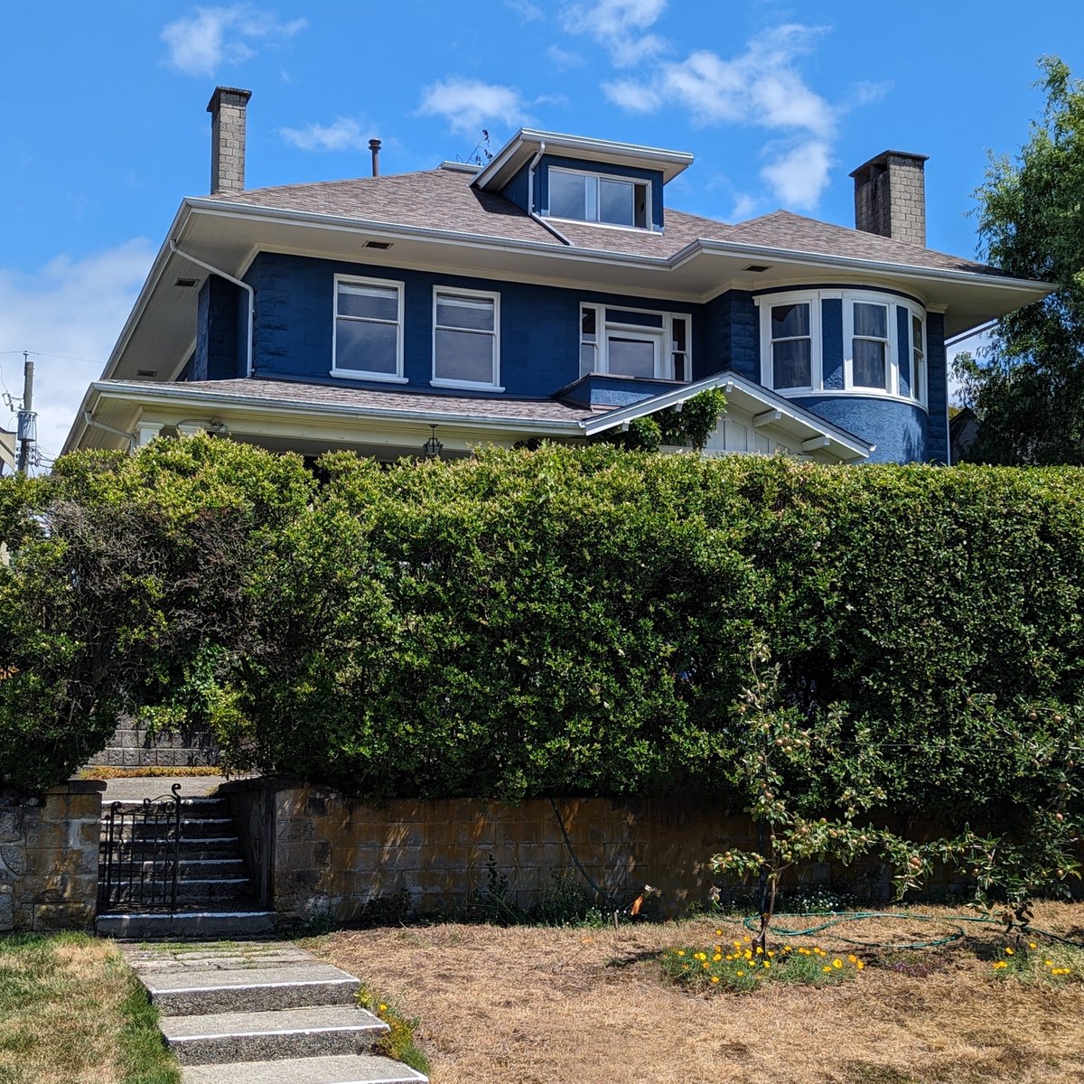
[[[194,15],[169,23],[160,37],[171,67],[185,75],[211,76],[222,65],[255,56],[256,46],[292,38],[307,25],[304,18],[283,22],[270,12],[234,4],[196,8]]]

